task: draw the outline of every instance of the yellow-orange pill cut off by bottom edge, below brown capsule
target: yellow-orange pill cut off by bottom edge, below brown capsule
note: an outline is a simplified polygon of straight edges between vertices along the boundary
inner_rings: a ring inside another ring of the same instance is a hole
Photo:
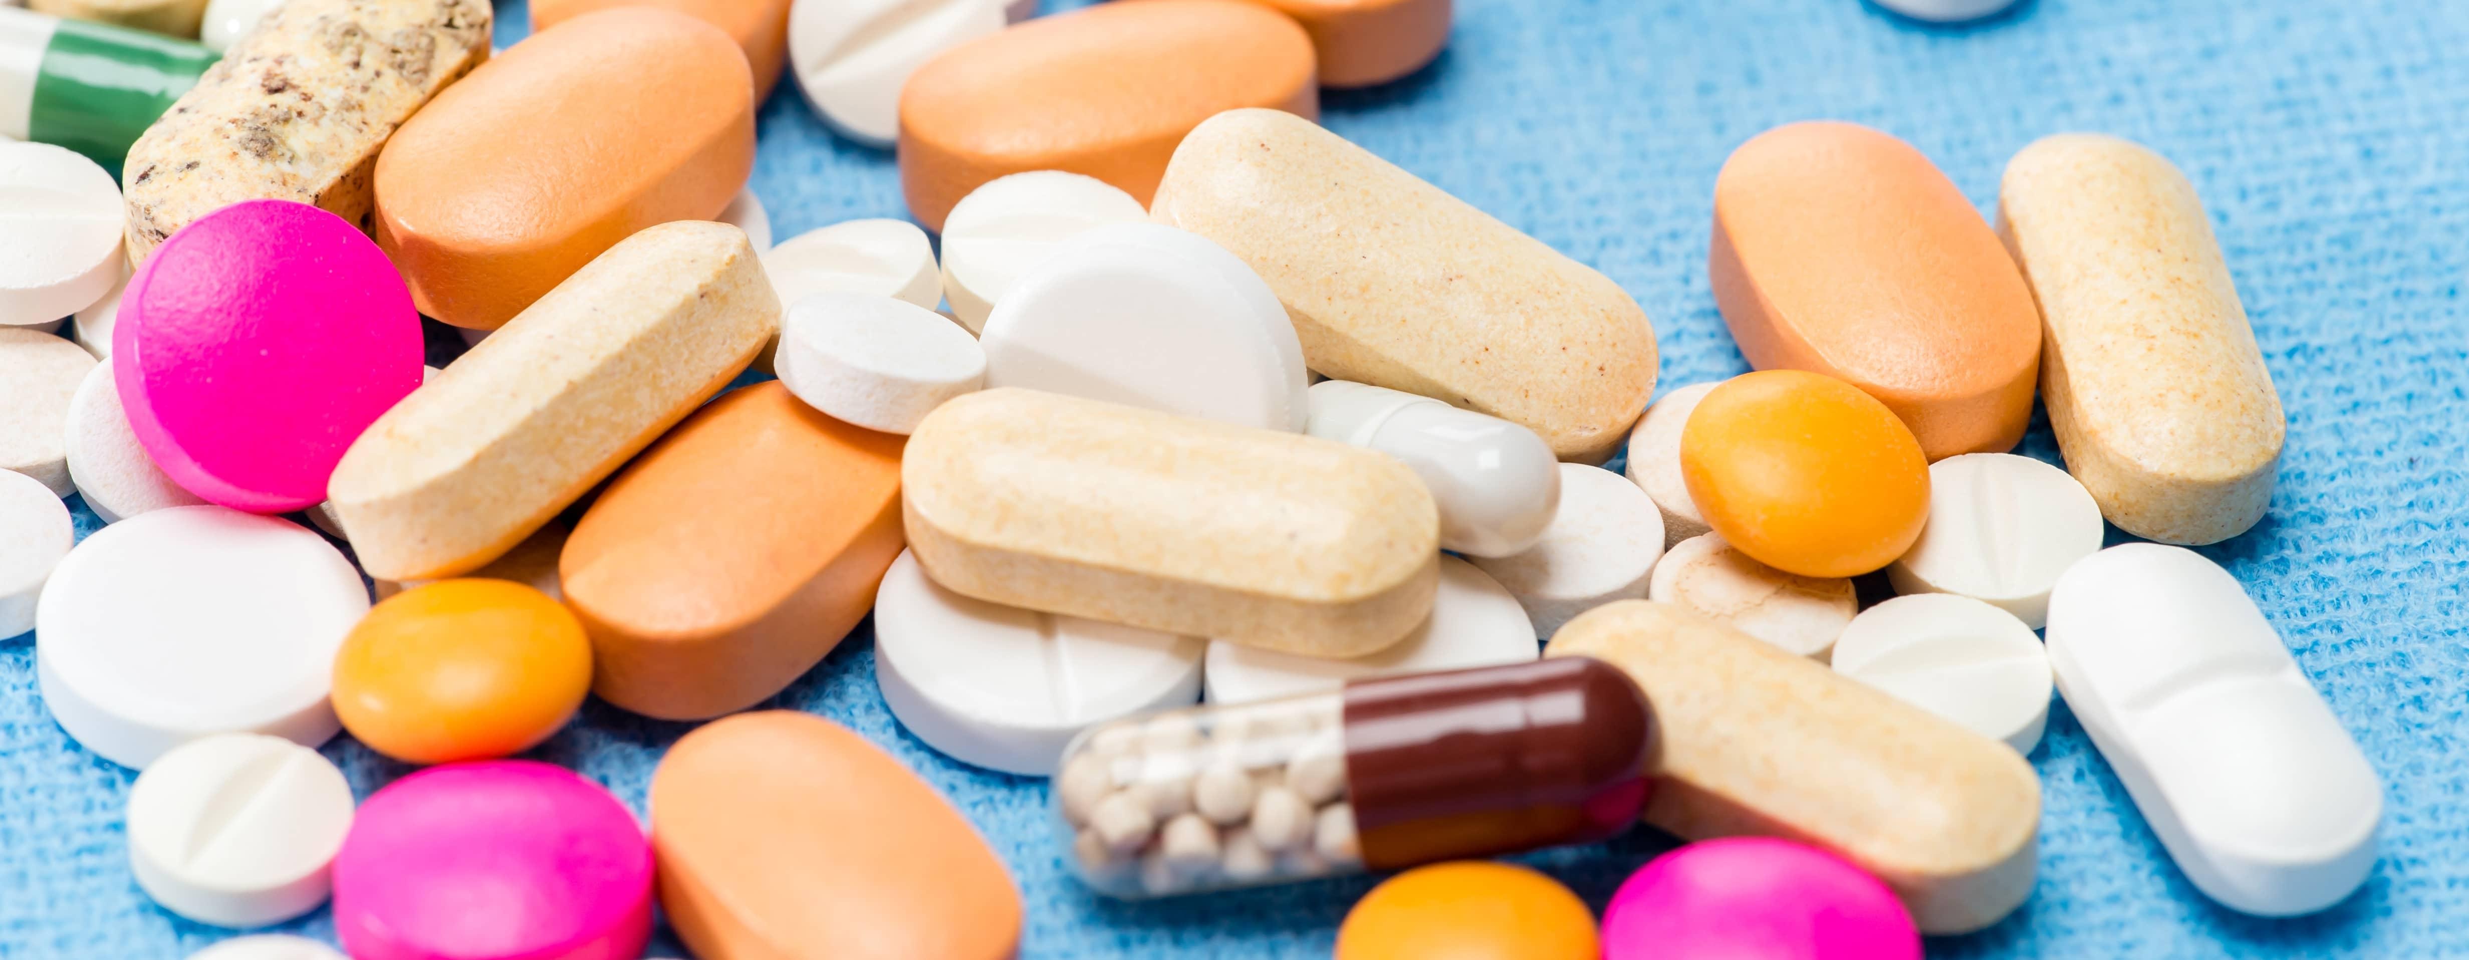
[[[1595,960],[1595,913],[1541,871],[1417,866],[1355,901],[1336,960]]]

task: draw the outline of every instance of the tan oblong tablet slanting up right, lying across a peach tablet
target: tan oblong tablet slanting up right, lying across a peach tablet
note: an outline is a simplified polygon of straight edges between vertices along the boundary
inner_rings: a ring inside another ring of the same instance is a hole
[[[378,580],[477,570],[746,370],[780,299],[718,222],[644,230],[343,452],[328,496]]]

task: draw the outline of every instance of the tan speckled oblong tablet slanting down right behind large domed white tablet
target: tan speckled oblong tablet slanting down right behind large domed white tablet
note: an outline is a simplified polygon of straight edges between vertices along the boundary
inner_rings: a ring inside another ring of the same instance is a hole
[[[1151,217],[1252,264],[1321,375],[1523,424],[1585,464],[1654,395],[1654,326],[1620,284],[1299,116],[1200,123]]]

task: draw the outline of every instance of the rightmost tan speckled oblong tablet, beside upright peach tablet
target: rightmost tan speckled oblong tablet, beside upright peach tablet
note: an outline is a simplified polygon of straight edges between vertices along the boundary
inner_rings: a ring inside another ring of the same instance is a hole
[[[2113,136],[2007,163],[1997,234],[2039,301],[2039,397],[2101,516],[2163,543],[2244,533],[2271,503],[2281,397],[2195,185]]]

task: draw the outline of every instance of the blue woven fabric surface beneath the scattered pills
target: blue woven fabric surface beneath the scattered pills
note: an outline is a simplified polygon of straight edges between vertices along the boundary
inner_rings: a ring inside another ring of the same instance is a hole
[[[521,37],[521,0],[499,15],[499,44]],[[1657,323],[1669,390],[1743,370],[1706,289],[1709,195],[1733,146],[1797,118],[1904,136],[1983,210],[2005,160],[2044,133],[2121,133],[2185,168],[2289,412],[2271,513],[2205,553],[2279,624],[2388,790],[2363,891],[2311,918],[2244,918],[2170,866],[2057,706],[2032,753],[2047,797],[2037,893],[1931,953],[2469,953],[2469,2],[2025,0],[1946,30],[1857,0],[1459,0],[1434,67],[1328,94],[1323,121],[1627,286]],[[832,138],[793,81],[760,123],[753,185],[778,237],[906,215],[891,155]],[[2044,424],[2025,452],[2057,459]],[[79,533],[94,526],[79,506]],[[775,703],[849,723],[968,812],[1027,898],[1027,958],[1326,955],[1370,886],[1094,898],[1047,837],[1044,785],[909,738],[872,659],[859,629]],[[536,755],[639,809],[684,730],[590,703]],[[363,797],[405,772],[348,738],[326,755]],[[0,955],[180,958],[230,935],[163,913],[128,879],[131,780],[44,713],[32,639],[0,642]],[[1637,832],[1531,861],[1600,908],[1667,846]],[[331,935],[331,918],[286,928]],[[654,953],[681,955],[667,938]]]

